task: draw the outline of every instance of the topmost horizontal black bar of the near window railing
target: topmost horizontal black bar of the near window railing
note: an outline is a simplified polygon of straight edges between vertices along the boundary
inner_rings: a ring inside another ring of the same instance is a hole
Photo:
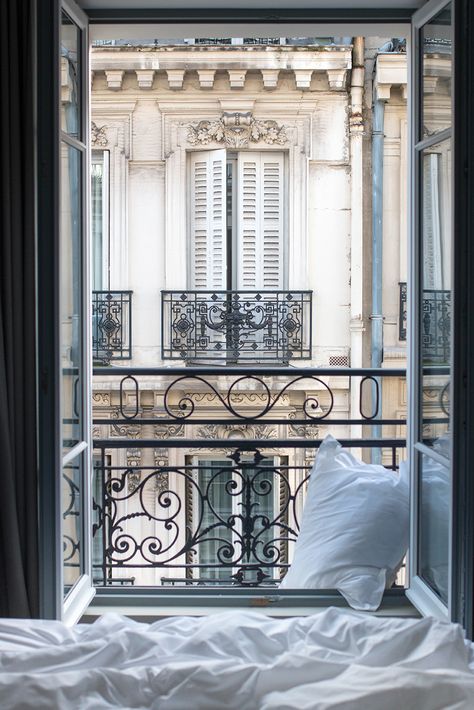
[[[448,374],[449,368],[444,366],[430,367],[430,373],[433,370],[434,374]],[[210,367],[203,365],[202,367],[94,367],[94,376],[104,377],[120,377],[127,375],[142,376],[142,377],[181,377],[186,375],[209,376],[216,375],[219,377],[233,377],[256,375],[258,377],[406,377],[406,369],[403,368],[383,368],[383,367],[366,367],[366,368],[351,368],[351,367],[232,367],[224,363],[222,367],[216,365]]]

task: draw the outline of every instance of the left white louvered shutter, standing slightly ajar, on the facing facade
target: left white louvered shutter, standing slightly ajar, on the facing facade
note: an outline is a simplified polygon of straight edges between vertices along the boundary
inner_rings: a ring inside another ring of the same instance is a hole
[[[226,287],[226,151],[191,153],[191,287]]]

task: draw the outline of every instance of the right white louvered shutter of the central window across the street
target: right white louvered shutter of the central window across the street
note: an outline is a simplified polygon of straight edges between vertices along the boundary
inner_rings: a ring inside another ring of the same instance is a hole
[[[239,153],[237,288],[283,288],[284,155]]]

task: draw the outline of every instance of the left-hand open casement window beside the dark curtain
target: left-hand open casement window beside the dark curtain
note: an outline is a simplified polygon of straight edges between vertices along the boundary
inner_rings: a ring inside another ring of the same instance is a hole
[[[44,241],[57,259],[46,263],[46,295],[54,339],[40,345],[42,377],[54,396],[40,400],[41,614],[74,623],[93,594],[91,575],[91,316],[89,294],[89,42],[88,21],[71,0],[50,18],[55,38],[51,163],[55,218]],[[56,22],[57,20],[57,22]],[[49,50],[51,52],[51,49]],[[52,79],[49,79],[49,89]],[[54,109],[54,112],[53,112]],[[39,133],[44,131],[40,126]],[[56,178],[57,176],[57,178]],[[43,205],[39,206],[40,217]],[[41,220],[40,220],[41,221]],[[51,235],[51,236],[50,236]],[[47,248],[39,240],[39,251]],[[43,265],[45,261],[43,259]],[[50,299],[48,301],[48,298]],[[44,307],[44,306],[43,306]],[[46,326],[48,328],[49,326]],[[40,337],[46,339],[43,332]]]

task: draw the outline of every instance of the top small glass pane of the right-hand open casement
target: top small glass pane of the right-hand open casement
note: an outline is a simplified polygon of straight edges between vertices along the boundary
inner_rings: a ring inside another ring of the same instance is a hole
[[[427,136],[451,125],[452,25],[451,4],[422,30],[422,126]]]

